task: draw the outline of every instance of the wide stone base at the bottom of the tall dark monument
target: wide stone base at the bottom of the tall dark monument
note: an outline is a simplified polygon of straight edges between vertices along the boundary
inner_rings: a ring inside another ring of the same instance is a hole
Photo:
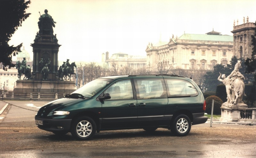
[[[30,98],[30,93],[34,93],[41,99],[55,99],[56,94],[62,96],[63,93],[70,94],[75,90],[75,82],[73,81],[17,80],[13,92],[15,98]]]

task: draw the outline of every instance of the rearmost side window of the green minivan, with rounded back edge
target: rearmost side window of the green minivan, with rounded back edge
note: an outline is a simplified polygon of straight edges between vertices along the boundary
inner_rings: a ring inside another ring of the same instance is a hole
[[[197,96],[198,92],[192,83],[185,80],[164,79],[167,83],[168,97]]]

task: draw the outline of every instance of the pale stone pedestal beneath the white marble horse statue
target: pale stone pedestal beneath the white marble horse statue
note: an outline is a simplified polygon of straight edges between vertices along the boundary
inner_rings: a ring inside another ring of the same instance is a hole
[[[221,122],[238,122],[241,119],[240,111],[242,109],[248,108],[244,103],[228,104],[227,102],[223,103],[221,108]]]

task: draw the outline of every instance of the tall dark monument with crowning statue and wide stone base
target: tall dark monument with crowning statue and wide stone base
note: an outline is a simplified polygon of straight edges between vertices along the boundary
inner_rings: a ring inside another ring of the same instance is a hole
[[[39,12],[40,13],[40,12]],[[33,47],[33,72],[28,80],[17,80],[14,96],[36,93],[38,98],[56,98],[56,94],[63,96],[76,90],[74,81],[60,80],[58,70],[59,47],[57,35],[53,35],[56,22],[48,14],[40,14],[38,21],[39,31],[36,33]],[[73,74],[75,74],[73,72]],[[41,96],[40,96],[41,95]]]

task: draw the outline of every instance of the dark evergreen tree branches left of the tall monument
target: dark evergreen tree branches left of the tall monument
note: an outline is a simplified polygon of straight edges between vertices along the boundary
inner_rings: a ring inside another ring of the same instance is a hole
[[[12,64],[12,55],[15,56],[20,52],[22,43],[17,46],[9,46],[14,32],[21,26],[22,21],[28,18],[30,13],[26,13],[29,7],[30,0],[2,0],[0,4],[0,63],[5,67],[8,65],[14,67]],[[7,70],[7,69],[5,69]]]

